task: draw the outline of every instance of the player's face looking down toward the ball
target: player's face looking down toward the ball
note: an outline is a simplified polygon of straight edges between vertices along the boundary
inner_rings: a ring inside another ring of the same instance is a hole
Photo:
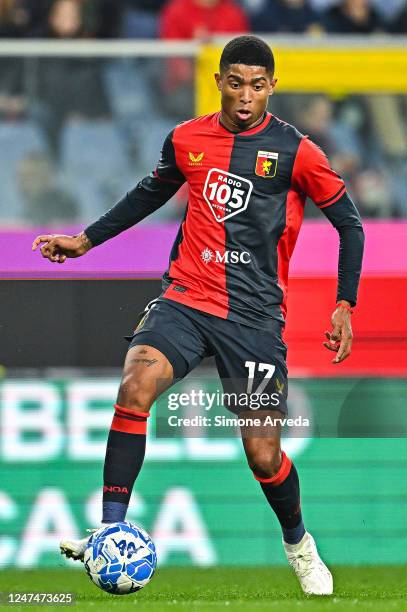
[[[277,79],[264,66],[232,64],[215,74],[221,92],[222,123],[233,132],[242,132],[260,123]]]

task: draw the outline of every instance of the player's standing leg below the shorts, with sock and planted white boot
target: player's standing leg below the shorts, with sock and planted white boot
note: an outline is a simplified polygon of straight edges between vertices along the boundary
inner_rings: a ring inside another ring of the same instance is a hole
[[[283,531],[283,545],[304,593],[331,595],[332,575],[318,555],[314,538],[304,529],[301,517],[300,487],[297,470],[280,447],[281,425],[265,426],[267,416],[281,419],[279,411],[255,414],[262,426],[241,428],[247,461],[256,480],[273,508]],[[253,411],[239,417],[253,418]]]

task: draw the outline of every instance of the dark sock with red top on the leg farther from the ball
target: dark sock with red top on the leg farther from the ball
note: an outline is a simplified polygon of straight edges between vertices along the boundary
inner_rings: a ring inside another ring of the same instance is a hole
[[[300,483],[297,470],[284,451],[280,469],[272,478],[259,478],[254,474],[268,503],[273,508],[283,530],[284,542],[298,544],[305,529],[300,506]]]

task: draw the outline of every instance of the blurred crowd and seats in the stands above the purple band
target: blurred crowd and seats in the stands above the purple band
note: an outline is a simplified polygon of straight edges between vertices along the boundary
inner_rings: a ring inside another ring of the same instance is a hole
[[[7,39],[205,41],[242,32],[405,34],[407,0],[0,0]],[[151,170],[174,124],[193,115],[193,76],[186,57],[1,56],[0,223],[103,212]],[[407,217],[405,96],[279,94],[270,110],[323,147],[365,217]],[[156,218],[180,217],[186,197],[181,190]]]

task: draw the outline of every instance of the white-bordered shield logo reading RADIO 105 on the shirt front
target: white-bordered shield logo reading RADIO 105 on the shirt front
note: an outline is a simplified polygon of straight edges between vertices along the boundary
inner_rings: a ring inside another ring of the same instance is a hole
[[[218,223],[237,215],[249,205],[253,183],[248,179],[212,168],[205,181],[203,196]]]

